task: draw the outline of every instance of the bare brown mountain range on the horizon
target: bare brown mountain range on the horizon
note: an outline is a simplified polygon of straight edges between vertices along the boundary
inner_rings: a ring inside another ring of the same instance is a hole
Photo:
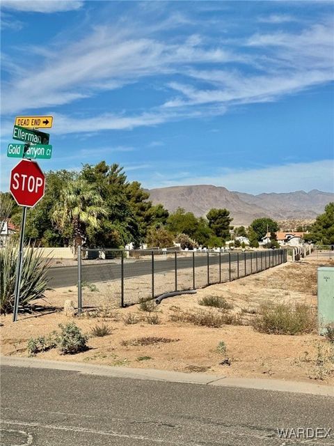
[[[324,212],[326,204],[334,201],[334,194],[311,190],[277,194],[246,194],[226,187],[192,185],[160,187],[148,190],[153,204],[161,203],[169,212],[178,207],[204,216],[211,208],[226,208],[233,217],[232,224],[248,226],[255,218],[275,220],[314,219]]]

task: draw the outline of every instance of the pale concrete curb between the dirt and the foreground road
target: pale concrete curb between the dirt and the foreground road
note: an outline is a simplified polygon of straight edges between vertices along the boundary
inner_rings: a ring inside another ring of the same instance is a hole
[[[0,364],[10,367],[27,367],[31,369],[53,369],[77,371],[81,374],[112,376],[143,380],[158,380],[170,383],[187,383],[215,385],[218,387],[241,387],[244,389],[271,390],[274,392],[293,392],[324,397],[334,397],[334,386],[302,383],[295,381],[260,379],[260,378],[226,378],[221,375],[186,374],[180,371],[157,369],[134,369],[130,367],[111,367],[104,365],[82,364],[80,362],[45,361],[26,357],[1,356]]]

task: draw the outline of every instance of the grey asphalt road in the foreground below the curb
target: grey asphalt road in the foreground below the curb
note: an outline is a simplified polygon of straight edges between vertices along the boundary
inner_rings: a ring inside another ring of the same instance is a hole
[[[1,368],[3,446],[333,446],[333,430],[277,431],[333,429],[333,410],[333,397]]]

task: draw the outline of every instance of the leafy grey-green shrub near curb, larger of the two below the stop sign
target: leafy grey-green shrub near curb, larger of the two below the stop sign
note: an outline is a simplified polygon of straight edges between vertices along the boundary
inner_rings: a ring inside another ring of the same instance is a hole
[[[61,332],[58,332],[56,336],[56,343],[61,355],[73,355],[87,350],[88,336],[82,334],[80,328],[74,322],[66,325],[60,323],[58,326]]]

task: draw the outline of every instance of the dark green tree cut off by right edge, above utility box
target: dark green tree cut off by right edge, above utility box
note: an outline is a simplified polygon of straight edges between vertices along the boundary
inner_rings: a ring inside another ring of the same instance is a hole
[[[325,212],[318,215],[304,238],[319,245],[334,245],[334,202],[328,203]]]

